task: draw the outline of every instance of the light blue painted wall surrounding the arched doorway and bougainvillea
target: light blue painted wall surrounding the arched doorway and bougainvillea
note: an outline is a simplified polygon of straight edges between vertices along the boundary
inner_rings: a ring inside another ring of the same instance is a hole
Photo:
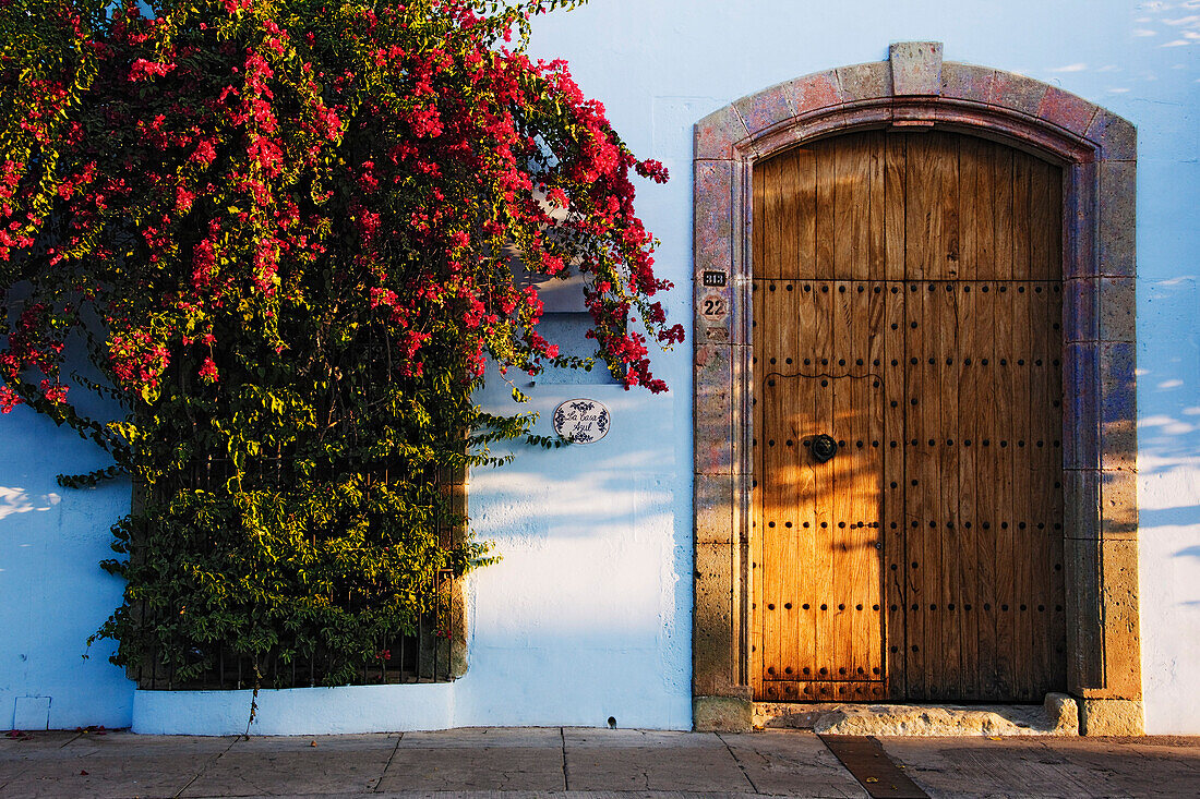
[[[660,274],[679,286],[668,311],[690,328],[692,124],[780,80],[883,60],[889,42],[906,40],[942,41],[947,60],[1022,72],[1138,126],[1147,729],[1200,733],[1200,0],[592,0],[539,19],[533,50],[566,58],[634,151],[671,169],[666,186],[640,187],[638,208],[662,241]],[[558,402],[588,396],[610,405],[612,433],[595,445],[524,451],[473,476],[475,529],[504,560],[469,585],[470,672],[452,696],[408,691],[394,715],[364,728],[390,719],[396,728],[608,716],[689,726],[690,341],[655,362],[667,396],[527,389],[544,431]],[[505,394],[485,398],[508,407]],[[56,489],[54,474],[85,468],[84,445],[28,416],[2,422],[0,727],[18,696],[52,696],[52,726],[122,723],[127,683],[79,653],[118,599],[91,564],[127,491]],[[50,492],[58,504],[43,499]],[[344,729],[335,720],[356,701],[326,698],[319,717],[304,721],[301,705],[281,703],[264,729]],[[188,713],[203,717],[205,702],[215,707],[198,698]],[[148,731],[180,710],[139,707]]]

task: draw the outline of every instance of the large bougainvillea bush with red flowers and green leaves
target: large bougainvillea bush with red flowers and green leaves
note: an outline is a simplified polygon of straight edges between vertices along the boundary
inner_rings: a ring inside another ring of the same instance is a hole
[[[647,346],[682,328],[630,172],[666,173],[523,54],[565,5],[0,0],[0,405],[112,453],[67,483],[133,480],[115,662],[344,683],[486,558],[445,535],[445,475],[550,441],[472,403],[485,367],[589,365],[512,252],[582,274],[596,356],[665,390]]]

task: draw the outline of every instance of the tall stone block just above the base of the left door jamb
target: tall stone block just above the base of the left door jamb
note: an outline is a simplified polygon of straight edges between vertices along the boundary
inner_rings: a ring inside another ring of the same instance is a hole
[[[697,543],[695,578],[692,693],[728,696],[734,683],[733,547]]]

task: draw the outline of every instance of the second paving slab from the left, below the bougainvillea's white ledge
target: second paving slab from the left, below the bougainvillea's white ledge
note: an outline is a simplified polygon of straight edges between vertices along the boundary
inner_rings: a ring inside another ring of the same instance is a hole
[[[400,735],[263,737],[238,740],[184,797],[371,791]]]

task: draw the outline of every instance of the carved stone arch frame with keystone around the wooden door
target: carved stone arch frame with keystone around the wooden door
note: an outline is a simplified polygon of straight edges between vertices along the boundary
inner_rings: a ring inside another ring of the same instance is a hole
[[[748,728],[750,182],[754,164],[853,130],[938,127],[1063,168],[1068,674],[1085,734],[1141,734],[1134,208],[1136,133],[1056,86],[942,61],[938,42],[788,80],[709,114],[694,157],[694,723]]]

